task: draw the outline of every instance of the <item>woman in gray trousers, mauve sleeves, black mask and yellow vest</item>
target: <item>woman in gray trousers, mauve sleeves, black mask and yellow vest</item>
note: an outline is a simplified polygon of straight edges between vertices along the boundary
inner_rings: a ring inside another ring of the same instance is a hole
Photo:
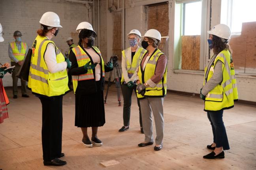
[[[162,149],[164,137],[163,103],[166,96],[167,58],[157,47],[161,41],[159,31],[151,29],[143,36],[141,46],[147,53],[141,59],[137,73],[137,97],[141,106],[141,116],[145,141],[140,147],[152,145],[153,128],[152,116],[156,125],[156,145],[154,150]]]

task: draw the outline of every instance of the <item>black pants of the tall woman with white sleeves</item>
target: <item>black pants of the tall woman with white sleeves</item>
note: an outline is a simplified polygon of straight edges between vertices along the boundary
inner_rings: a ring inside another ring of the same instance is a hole
[[[60,157],[62,145],[62,96],[39,97],[42,103],[43,160]]]

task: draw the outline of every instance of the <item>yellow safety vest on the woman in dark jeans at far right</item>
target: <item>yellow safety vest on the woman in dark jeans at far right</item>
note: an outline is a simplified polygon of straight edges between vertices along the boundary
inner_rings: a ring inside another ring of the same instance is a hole
[[[222,52],[216,56],[208,74],[207,67],[205,67],[203,85],[213,76],[214,68],[218,60],[222,62],[222,82],[206,95],[204,111],[212,112],[230,109],[234,107],[234,100],[238,100],[234,64],[228,50],[222,50]]]

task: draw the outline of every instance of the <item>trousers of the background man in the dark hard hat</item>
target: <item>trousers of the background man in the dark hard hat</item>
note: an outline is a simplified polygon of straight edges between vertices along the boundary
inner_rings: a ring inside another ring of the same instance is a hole
[[[19,78],[16,77],[16,74],[19,72],[21,66],[18,63],[11,62],[11,66],[15,66],[13,68],[12,78],[13,78],[13,95],[18,94],[18,80]],[[26,94],[26,81],[21,80],[21,94]]]

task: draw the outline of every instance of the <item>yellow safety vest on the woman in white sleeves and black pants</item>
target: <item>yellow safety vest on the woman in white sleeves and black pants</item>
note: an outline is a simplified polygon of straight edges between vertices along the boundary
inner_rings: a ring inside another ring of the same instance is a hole
[[[68,74],[66,69],[56,73],[49,72],[44,60],[45,50],[49,43],[53,43],[56,49],[56,61],[62,63],[64,56],[55,43],[47,37],[37,36],[32,49],[32,57],[28,76],[28,87],[35,94],[44,96],[59,96],[65,94],[68,88]]]

